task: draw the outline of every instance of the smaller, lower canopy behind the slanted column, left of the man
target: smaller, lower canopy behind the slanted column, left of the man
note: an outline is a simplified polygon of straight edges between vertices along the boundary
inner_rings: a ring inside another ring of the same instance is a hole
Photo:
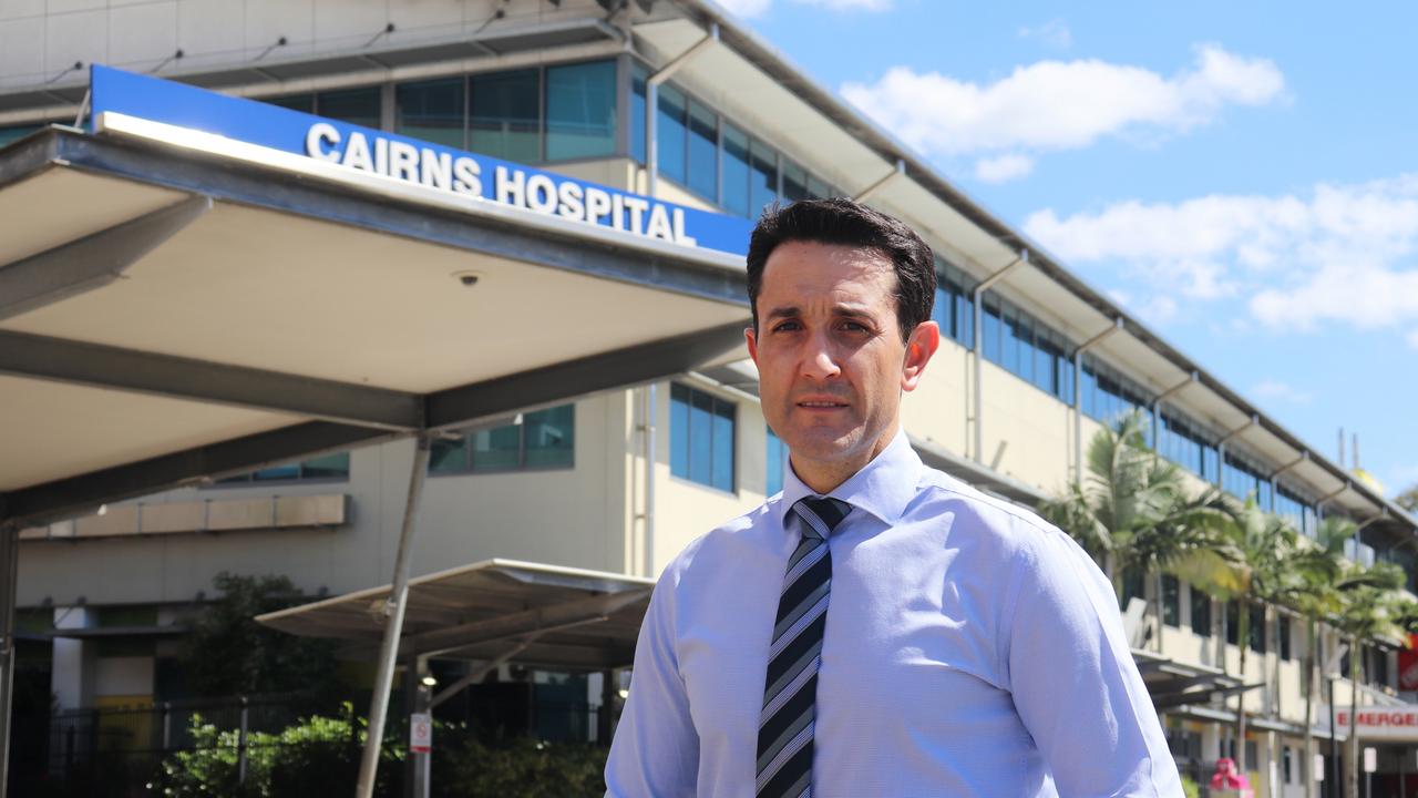
[[[403,657],[495,660],[566,670],[628,667],[655,582],[489,559],[408,581]],[[352,643],[373,657],[390,585],[257,616],[267,626]],[[515,652],[515,653],[512,653]],[[509,656],[510,655],[510,656]]]

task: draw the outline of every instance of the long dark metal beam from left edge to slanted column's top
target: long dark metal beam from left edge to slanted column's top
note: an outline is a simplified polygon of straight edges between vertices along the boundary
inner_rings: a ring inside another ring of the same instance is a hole
[[[0,373],[386,430],[423,426],[414,393],[23,332],[0,331]]]

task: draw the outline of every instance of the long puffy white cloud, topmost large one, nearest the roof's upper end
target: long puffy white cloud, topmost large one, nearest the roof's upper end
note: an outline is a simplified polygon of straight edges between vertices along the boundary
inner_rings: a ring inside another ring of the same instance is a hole
[[[936,155],[1089,146],[1102,136],[1185,132],[1228,105],[1263,105],[1285,88],[1266,58],[1197,48],[1173,77],[1099,60],[1039,61],[991,84],[893,67],[842,95],[908,143]]]

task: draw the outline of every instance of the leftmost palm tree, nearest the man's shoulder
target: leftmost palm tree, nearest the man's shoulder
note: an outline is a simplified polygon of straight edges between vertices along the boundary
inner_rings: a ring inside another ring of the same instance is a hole
[[[1123,572],[1160,574],[1185,554],[1204,550],[1227,518],[1219,491],[1191,496],[1181,469],[1147,446],[1139,412],[1093,436],[1088,479],[1041,507],[1045,518],[1098,559],[1119,602]]]

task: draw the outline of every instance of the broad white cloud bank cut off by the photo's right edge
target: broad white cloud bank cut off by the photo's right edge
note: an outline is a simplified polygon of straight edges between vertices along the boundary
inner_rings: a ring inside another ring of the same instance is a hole
[[[1238,297],[1272,328],[1418,321],[1418,173],[1305,195],[1129,200],[1069,217],[1046,209],[1025,230],[1065,261],[1113,266],[1159,291]]]

